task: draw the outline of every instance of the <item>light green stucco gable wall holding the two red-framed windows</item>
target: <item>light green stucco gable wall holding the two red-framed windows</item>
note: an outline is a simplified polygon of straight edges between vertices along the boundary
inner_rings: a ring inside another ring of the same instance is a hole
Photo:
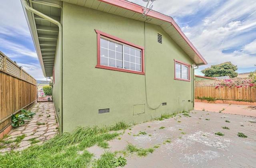
[[[80,125],[113,125],[122,120],[144,122],[161,113],[193,108],[192,82],[174,80],[174,59],[187,64],[193,61],[160,26],[146,23],[145,46],[141,21],[65,2],[62,21],[63,131],[72,131]],[[97,34],[94,29],[145,47],[146,76],[95,68]],[[162,44],[157,42],[157,33],[162,34]],[[146,93],[150,107],[167,105],[150,109]],[[133,115],[134,105],[141,104],[145,113]],[[106,108],[110,113],[98,113],[98,109]]]

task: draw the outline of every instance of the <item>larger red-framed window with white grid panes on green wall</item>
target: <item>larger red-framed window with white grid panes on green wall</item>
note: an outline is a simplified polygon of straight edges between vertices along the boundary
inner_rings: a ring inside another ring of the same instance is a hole
[[[144,48],[95,30],[98,39],[97,68],[144,73]]]

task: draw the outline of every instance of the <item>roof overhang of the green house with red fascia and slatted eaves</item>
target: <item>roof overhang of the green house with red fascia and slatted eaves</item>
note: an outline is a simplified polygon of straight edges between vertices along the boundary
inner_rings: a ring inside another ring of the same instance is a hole
[[[24,7],[26,2],[24,5],[24,0],[21,0],[44,76],[52,76],[53,74],[56,47],[58,46],[57,41],[58,38],[60,38],[58,37],[58,26],[47,21],[47,17],[60,22],[62,14],[62,2],[60,1],[159,25],[181,47],[181,49],[186,52],[197,66],[207,64],[206,60],[189,41],[186,35],[184,35],[180,27],[171,17],[154,10],[150,10],[148,13],[146,12],[148,17],[142,18],[144,7],[132,2],[126,0],[52,0],[50,2],[54,2],[56,4],[50,5],[48,3],[49,0],[47,0],[48,4],[28,0],[31,8],[46,15],[45,18],[42,18],[26,10]]]

